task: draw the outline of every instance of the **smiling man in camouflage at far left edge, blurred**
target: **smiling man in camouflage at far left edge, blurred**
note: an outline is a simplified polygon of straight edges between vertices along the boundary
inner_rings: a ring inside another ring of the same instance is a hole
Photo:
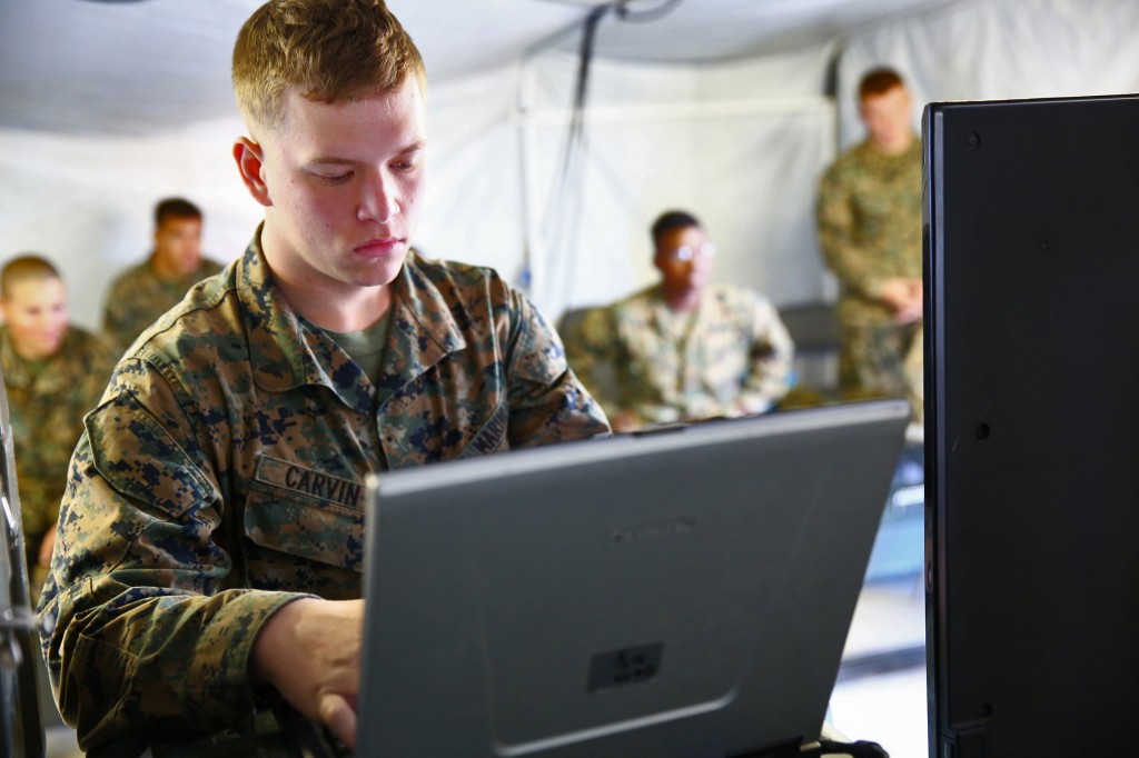
[[[38,255],[21,255],[0,270],[0,366],[35,598],[51,560],[67,461],[118,353],[68,323],[63,279]]]

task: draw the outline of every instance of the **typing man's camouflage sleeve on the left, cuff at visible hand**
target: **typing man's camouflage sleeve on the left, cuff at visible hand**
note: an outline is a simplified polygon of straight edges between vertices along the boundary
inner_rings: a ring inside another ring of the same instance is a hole
[[[72,456],[40,601],[52,689],[84,750],[252,719],[253,638],[298,596],[229,588],[214,465],[169,386],[150,373],[128,389],[140,369],[125,365]]]

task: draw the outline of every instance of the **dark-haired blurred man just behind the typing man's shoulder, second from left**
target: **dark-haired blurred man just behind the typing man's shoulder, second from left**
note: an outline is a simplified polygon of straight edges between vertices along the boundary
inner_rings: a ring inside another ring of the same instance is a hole
[[[154,209],[154,252],[118,275],[107,293],[103,330],[125,349],[174,307],[186,290],[221,271],[202,256],[202,211],[189,200],[166,198]]]

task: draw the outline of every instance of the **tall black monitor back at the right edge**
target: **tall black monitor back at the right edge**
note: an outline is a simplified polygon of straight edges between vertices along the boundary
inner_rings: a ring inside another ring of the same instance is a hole
[[[929,753],[1139,722],[1139,97],[925,110]]]

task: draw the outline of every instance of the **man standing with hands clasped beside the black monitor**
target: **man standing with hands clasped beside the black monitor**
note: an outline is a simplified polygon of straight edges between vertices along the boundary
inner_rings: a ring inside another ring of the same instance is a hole
[[[896,72],[866,74],[859,102],[867,138],[827,171],[818,204],[822,254],[841,286],[839,381],[850,396],[913,402],[904,363],[921,338],[921,141]]]

